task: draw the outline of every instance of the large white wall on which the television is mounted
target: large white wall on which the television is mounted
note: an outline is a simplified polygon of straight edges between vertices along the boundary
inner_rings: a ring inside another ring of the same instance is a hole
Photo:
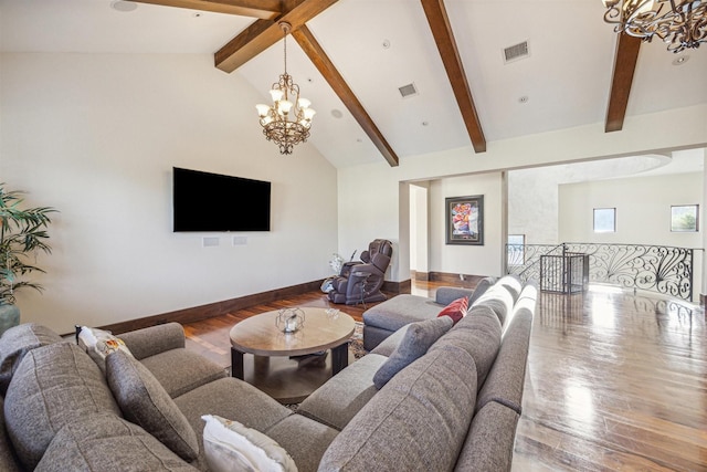
[[[19,294],[23,322],[66,333],[330,274],[336,170],[308,144],[281,156],[253,107],[265,91],[211,55],[3,54],[0,67],[0,181],[61,211],[38,260],[44,294]],[[172,166],[272,181],[272,231],[235,247],[209,234],[218,248],[172,233]]]

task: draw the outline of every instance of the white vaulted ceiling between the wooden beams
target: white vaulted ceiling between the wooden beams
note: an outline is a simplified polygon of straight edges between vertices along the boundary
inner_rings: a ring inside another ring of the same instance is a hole
[[[604,120],[615,33],[602,20],[600,0],[445,6],[487,141]],[[144,3],[119,12],[112,0],[0,0],[0,48],[212,54],[253,21]],[[339,0],[307,25],[401,159],[471,144],[419,0]],[[526,40],[530,56],[504,64],[503,49]],[[337,167],[380,161],[293,39],[287,49],[288,72],[318,112],[310,143]],[[664,44],[643,44],[626,115],[707,103],[707,48],[687,55],[675,66]],[[267,99],[282,73],[282,42],[235,73]],[[398,87],[409,83],[419,94],[402,98]]]

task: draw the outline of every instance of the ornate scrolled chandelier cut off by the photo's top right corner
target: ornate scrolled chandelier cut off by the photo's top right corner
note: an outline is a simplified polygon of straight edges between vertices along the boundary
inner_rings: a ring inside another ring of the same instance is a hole
[[[674,53],[699,48],[707,41],[705,0],[602,0],[604,21],[614,31],[651,42],[657,35]]]

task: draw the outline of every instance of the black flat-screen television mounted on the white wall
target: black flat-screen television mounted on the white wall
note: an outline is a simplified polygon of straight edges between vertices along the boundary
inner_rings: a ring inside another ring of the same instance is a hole
[[[270,231],[271,182],[173,168],[175,232]]]

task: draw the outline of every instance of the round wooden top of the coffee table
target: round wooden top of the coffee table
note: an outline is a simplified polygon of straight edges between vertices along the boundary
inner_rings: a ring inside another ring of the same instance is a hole
[[[354,335],[356,323],[344,312],[336,316],[327,308],[299,307],[305,312],[304,327],[283,333],[275,325],[278,312],[266,312],[231,328],[231,345],[256,356],[302,356],[340,346]]]

